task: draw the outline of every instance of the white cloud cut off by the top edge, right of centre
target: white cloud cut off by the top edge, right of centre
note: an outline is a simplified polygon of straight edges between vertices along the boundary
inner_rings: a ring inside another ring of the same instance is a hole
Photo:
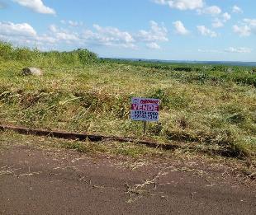
[[[155,3],[168,5],[178,10],[196,10],[203,7],[203,0],[154,0]]]

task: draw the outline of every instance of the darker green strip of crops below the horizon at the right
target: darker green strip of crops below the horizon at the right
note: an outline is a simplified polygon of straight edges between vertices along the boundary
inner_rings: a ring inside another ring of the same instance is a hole
[[[256,86],[256,68],[226,65],[201,65],[186,63],[159,63],[143,61],[127,61],[116,59],[101,59],[102,63],[129,64],[136,68],[148,68],[155,72],[164,72],[168,77],[183,82],[219,83],[236,82],[238,84]]]

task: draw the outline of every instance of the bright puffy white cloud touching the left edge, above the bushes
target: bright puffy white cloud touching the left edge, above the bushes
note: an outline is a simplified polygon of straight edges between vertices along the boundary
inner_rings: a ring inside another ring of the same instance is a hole
[[[36,36],[36,30],[27,23],[15,24],[10,21],[0,21],[0,34],[11,36]]]

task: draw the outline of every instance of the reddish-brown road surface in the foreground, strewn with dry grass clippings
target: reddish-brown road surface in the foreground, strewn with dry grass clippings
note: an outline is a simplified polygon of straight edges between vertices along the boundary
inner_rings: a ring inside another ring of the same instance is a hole
[[[255,188],[225,165],[0,152],[0,214],[255,214]]]

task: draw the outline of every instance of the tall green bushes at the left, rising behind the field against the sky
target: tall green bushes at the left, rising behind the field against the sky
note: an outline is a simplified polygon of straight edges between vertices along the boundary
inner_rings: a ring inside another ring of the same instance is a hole
[[[88,49],[76,49],[69,52],[49,51],[41,52],[38,49],[14,47],[12,44],[0,41],[0,59],[21,62],[36,62],[48,65],[72,64],[85,65],[97,62],[97,54]]]

